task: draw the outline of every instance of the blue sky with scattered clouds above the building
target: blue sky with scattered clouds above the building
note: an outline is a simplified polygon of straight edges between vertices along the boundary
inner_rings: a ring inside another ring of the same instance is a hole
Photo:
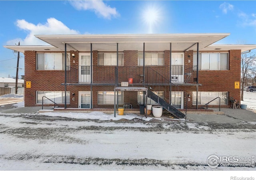
[[[0,77],[16,76],[5,45],[42,45],[34,34],[231,33],[218,44],[256,44],[256,1],[3,1]],[[19,75],[24,75],[21,54]]]

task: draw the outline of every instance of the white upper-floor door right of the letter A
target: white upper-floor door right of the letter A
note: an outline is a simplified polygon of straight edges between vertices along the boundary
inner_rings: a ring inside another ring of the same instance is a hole
[[[79,66],[79,82],[91,82],[91,56],[90,53],[79,53],[78,66]]]

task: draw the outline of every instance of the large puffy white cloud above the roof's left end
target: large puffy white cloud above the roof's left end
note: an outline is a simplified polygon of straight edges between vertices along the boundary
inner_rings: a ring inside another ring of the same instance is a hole
[[[65,24],[55,18],[49,18],[45,24],[38,23],[37,25],[27,22],[24,19],[17,20],[16,26],[21,30],[28,32],[28,35],[23,40],[20,38],[9,40],[7,42],[8,45],[17,44],[18,41],[20,41],[20,44],[22,45],[46,45],[45,42],[34,36],[36,34],[79,34],[78,31],[68,28]]]

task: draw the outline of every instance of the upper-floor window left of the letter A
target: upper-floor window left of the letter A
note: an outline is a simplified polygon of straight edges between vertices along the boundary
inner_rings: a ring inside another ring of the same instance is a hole
[[[67,66],[70,66],[70,54],[67,53]],[[37,53],[37,70],[65,70],[65,53]]]

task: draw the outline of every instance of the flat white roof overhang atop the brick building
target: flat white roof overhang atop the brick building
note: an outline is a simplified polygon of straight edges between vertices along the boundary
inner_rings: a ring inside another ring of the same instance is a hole
[[[217,51],[239,49],[242,52],[256,48],[252,45],[239,44],[213,44],[222,38],[228,36],[229,33],[203,33],[203,34],[81,34],[81,35],[35,35],[36,38],[43,40],[51,46],[4,46],[19,52],[25,50],[34,51],[64,51],[65,43],[67,51],[116,51],[118,50],[145,50],[162,51],[170,50],[172,43],[172,51],[197,50],[197,43],[200,51]]]

